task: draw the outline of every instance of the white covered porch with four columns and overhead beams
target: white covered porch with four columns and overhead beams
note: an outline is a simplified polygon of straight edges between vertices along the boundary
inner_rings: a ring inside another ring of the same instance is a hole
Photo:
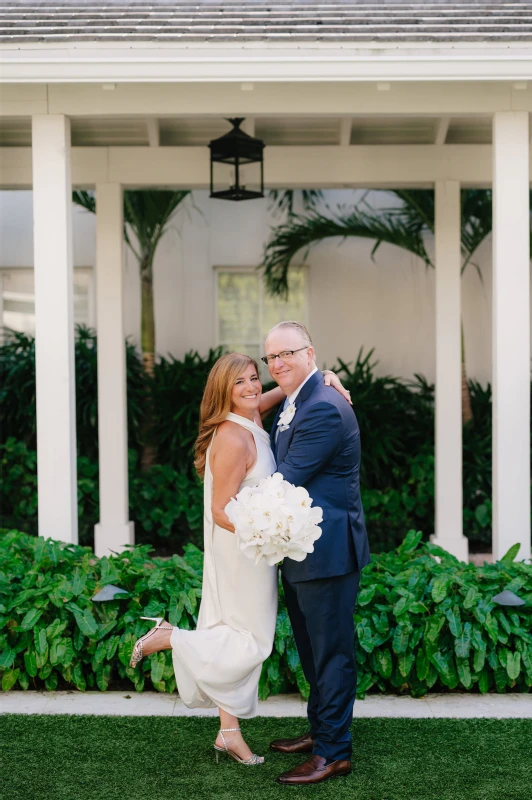
[[[355,74],[357,63],[351,76],[317,81],[310,68],[305,73],[288,62],[282,69],[273,60],[240,63],[229,76],[223,54],[218,65],[206,62],[190,59],[186,79],[172,81],[152,78],[144,67],[138,82],[133,73],[124,78],[123,64],[96,69],[89,59],[84,72],[80,59],[75,79],[66,81],[57,62],[38,77],[14,59],[11,83],[2,87],[0,187],[32,188],[34,198],[40,534],[77,541],[72,187],[95,189],[97,197],[95,547],[103,555],[134,541],[128,519],[122,192],[207,188],[206,145],[227,129],[225,117],[243,116],[248,130],[266,142],[269,189],[435,188],[433,540],[464,560],[460,189],[493,187],[493,552],[498,558],[520,542],[520,557],[528,556],[532,85],[521,80],[528,65],[514,66],[519,80],[505,74],[471,77],[456,63],[449,63],[449,74],[440,64],[430,79],[406,79],[397,65],[368,59],[365,78]],[[135,69],[138,75],[140,67]]]

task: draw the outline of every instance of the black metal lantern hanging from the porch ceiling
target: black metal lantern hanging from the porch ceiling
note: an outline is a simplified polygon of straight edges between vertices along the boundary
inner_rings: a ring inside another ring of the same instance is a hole
[[[264,197],[264,142],[240,130],[243,118],[228,119],[232,130],[209,142],[211,150],[211,197],[222,200],[253,200]],[[234,168],[234,183],[229,189],[214,191],[214,165],[228,164]],[[241,168],[248,164],[260,166],[260,189],[253,191],[240,185]]]

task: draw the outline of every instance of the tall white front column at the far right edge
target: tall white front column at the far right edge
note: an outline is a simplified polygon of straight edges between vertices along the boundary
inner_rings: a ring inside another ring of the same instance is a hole
[[[530,558],[528,113],[493,117],[493,553]]]

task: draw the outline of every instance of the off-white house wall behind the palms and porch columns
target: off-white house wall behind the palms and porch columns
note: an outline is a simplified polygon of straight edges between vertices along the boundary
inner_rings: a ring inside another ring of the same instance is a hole
[[[329,191],[326,202],[348,203],[351,191]],[[373,196],[375,197],[375,195]],[[195,207],[194,207],[195,206]],[[215,266],[250,266],[261,259],[275,220],[268,201],[229,203],[194,193],[160,244],[155,260],[157,349],[181,357],[216,344]],[[0,266],[33,264],[31,192],[0,192]],[[74,263],[95,263],[95,218],[74,210]],[[360,347],[375,348],[380,373],[415,372],[434,380],[434,280],[413,256],[383,245],[377,263],[372,243],[328,241],[315,247],[309,265],[309,317],[319,364],[352,360]],[[462,310],[469,374],[491,377],[491,243],[478,253],[481,282],[470,266],[462,279]],[[301,260],[298,260],[301,263]],[[140,334],[140,281],[127,254],[125,329]]]

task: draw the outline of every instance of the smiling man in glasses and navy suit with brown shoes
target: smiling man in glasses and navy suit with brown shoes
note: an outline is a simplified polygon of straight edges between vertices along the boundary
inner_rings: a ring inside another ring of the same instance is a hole
[[[369,547],[360,500],[360,432],[353,409],[326,387],[312,340],[299,322],[280,322],[268,334],[270,375],[287,396],[272,428],[277,471],[304,486],[323,509],[322,535],[304,561],[281,567],[286,605],[310,684],[310,730],[278,739],[272,750],[311,753],[283,773],[281,784],[320,783],[351,771],[357,671],[353,612]]]

